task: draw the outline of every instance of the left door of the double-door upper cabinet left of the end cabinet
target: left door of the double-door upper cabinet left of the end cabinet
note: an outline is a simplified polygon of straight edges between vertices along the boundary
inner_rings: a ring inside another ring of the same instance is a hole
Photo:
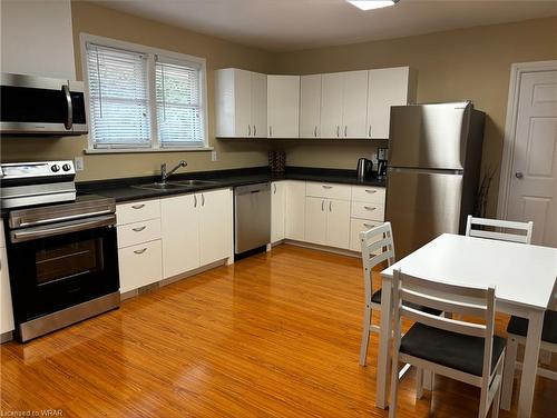
[[[343,73],[321,78],[321,138],[340,138],[342,127]]]

